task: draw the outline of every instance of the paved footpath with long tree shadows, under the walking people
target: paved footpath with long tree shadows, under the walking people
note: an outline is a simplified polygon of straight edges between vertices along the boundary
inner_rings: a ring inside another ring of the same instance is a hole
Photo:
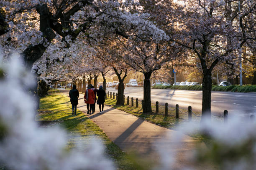
[[[67,90],[61,92],[68,96]],[[84,95],[79,94],[77,109],[87,115],[87,107],[84,104]],[[104,113],[99,113],[99,105],[93,115],[87,115],[95,122],[112,140],[125,152],[135,152],[140,158],[145,158],[150,162],[158,163],[160,155],[166,158],[170,157],[170,163],[176,152],[177,162],[174,163],[174,169],[184,169],[187,166],[193,166],[196,169],[215,169],[206,165],[199,167],[193,165],[190,159],[195,153],[197,145],[205,145],[200,141],[189,136],[182,138],[182,143],[174,142],[175,131],[146,122],[136,116],[112,107],[104,106]],[[159,151],[161,153],[159,154]],[[167,154],[167,155],[166,155]]]

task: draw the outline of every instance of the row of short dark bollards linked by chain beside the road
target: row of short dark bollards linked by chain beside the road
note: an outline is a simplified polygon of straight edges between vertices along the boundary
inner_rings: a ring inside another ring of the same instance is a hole
[[[115,96],[114,96],[115,94]],[[109,92],[108,92],[108,97],[109,97]],[[110,98],[112,98],[112,92],[110,92]],[[113,93],[113,99],[116,99],[117,100],[118,98],[118,93]],[[131,100],[131,106],[134,107],[134,98],[127,96],[127,98],[125,98],[125,95],[123,95],[123,99],[124,99],[124,102],[127,104],[127,105],[130,105],[130,100]],[[136,98],[136,107],[139,107],[139,104],[141,105],[141,108],[143,108],[143,104],[144,104],[144,101],[143,100],[138,100],[138,98]],[[191,106],[188,106],[188,109],[187,111],[182,111],[181,109],[179,109],[179,105],[176,104],[175,105],[175,108],[173,109],[172,107],[169,107],[168,106],[168,103],[165,103],[164,106],[161,106],[159,105],[159,102],[156,101],[156,104],[153,104],[151,103],[151,106],[154,106],[156,107],[156,114],[159,113],[159,107],[161,109],[164,109],[164,115],[165,116],[168,116],[168,111],[174,111],[175,110],[175,118],[179,119],[179,113],[182,113],[182,114],[187,114],[187,117],[188,117],[188,120],[189,121],[192,121],[192,115],[194,115],[195,117],[202,117],[202,115],[197,115],[196,113],[194,113],[192,111],[192,107]],[[224,110],[223,111],[223,115],[222,116],[216,116],[216,115],[211,115],[211,117],[215,117],[215,118],[222,118],[223,117],[223,120],[224,122],[227,122],[228,121],[228,110]],[[254,119],[254,115],[251,115],[251,119]]]

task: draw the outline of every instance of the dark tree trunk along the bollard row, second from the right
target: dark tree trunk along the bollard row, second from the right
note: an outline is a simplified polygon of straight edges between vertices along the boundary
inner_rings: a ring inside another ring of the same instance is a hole
[[[152,72],[145,72],[144,73],[144,85],[143,85],[143,113],[152,112],[151,109],[151,89],[150,89],[150,77]]]

